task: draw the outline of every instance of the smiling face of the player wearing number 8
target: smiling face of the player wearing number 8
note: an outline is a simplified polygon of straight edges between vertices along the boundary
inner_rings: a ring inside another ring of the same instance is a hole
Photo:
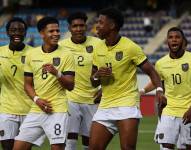
[[[59,25],[56,23],[48,24],[41,32],[40,35],[45,45],[55,46],[60,39]]]

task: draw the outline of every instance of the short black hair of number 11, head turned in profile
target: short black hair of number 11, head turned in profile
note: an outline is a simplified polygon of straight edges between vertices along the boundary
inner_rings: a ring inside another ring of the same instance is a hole
[[[104,15],[107,16],[109,19],[112,19],[114,23],[117,26],[117,29],[120,30],[120,28],[124,24],[124,17],[120,10],[116,8],[106,8],[102,9],[98,12],[98,15]]]

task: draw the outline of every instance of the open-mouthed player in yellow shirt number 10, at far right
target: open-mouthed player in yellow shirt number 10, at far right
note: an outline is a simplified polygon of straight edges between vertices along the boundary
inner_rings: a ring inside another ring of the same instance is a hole
[[[167,32],[169,54],[156,62],[156,70],[164,84],[167,106],[158,121],[155,141],[162,144],[164,150],[186,149],[185,141],[190,139],[191,112],[191,53],[186,51],[187,40],[183,31],[178,27],[172,27]],[[152,82],[142,90],[144,93],[155,89]],[[185,139],[186,134],[189,137]],[[191,143],[188,142],[191,145]],[[189,145],[188,145],[189,146]]]

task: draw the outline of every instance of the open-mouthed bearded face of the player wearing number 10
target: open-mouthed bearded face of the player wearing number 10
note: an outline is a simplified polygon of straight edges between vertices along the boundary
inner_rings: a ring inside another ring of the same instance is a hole
[[[180,31],[170,31],[167,35],[167,43],[170,53],[178,53],[183,50],[184,38]]]

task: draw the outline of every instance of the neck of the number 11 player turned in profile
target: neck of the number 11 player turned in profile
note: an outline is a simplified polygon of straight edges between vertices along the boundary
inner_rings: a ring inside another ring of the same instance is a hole
[[[114,46],[120,41],[120,39],[121,36],[119,34],[111,34],[106,38],[105,43],[107,46]]]

